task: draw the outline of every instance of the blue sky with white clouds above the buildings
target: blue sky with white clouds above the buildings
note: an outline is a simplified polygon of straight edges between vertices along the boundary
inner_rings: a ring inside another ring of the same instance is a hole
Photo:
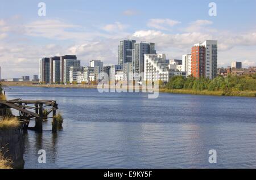
[[[38,16],[38,3],[46,16]],[[217,16],[209,16],[215,2]],[[118,63],[119,41],[155,42],[158,53],[181,59],[204,40],[218,41],[218,67],[256,66],[256,1],[3,1],[0,0],[1,78],[39,74],[39,59],[75,54]]]

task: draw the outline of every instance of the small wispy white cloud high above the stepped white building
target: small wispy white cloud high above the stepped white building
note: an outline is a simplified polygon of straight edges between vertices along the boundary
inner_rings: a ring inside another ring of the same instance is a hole
[[[167,30],[174,25],[180,24],[181,22],[171,19],[150,19],[147,23],[147,26],[150,28]]]

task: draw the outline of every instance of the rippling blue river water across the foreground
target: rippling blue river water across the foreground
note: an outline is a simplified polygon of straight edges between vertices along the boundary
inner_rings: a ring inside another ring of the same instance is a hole
[[[148,99],[38,87],[10,87],[6,94],[57,100],[64,117],[57,134],[24,135],[25,168],[256,168],[256,98],[160,93]],[[51,130],[51,120],[43,126]],[[40,149],[46,164],[38,163]],[[210,149],[216,164],[208,161]]]

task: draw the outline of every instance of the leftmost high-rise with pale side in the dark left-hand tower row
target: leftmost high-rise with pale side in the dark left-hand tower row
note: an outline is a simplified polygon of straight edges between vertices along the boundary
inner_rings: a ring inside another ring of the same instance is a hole
[[[39,82],[49,83],[49,58],[41,58],[39,63]]]

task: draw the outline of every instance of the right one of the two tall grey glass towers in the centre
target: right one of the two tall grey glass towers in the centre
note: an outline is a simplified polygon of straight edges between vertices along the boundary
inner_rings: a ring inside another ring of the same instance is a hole
[[[132,50],[133,59],[133,72],[141,74],[144,72],[144,54],[155,54],[155,44],[138,42],[134,44],[134,49]]]

